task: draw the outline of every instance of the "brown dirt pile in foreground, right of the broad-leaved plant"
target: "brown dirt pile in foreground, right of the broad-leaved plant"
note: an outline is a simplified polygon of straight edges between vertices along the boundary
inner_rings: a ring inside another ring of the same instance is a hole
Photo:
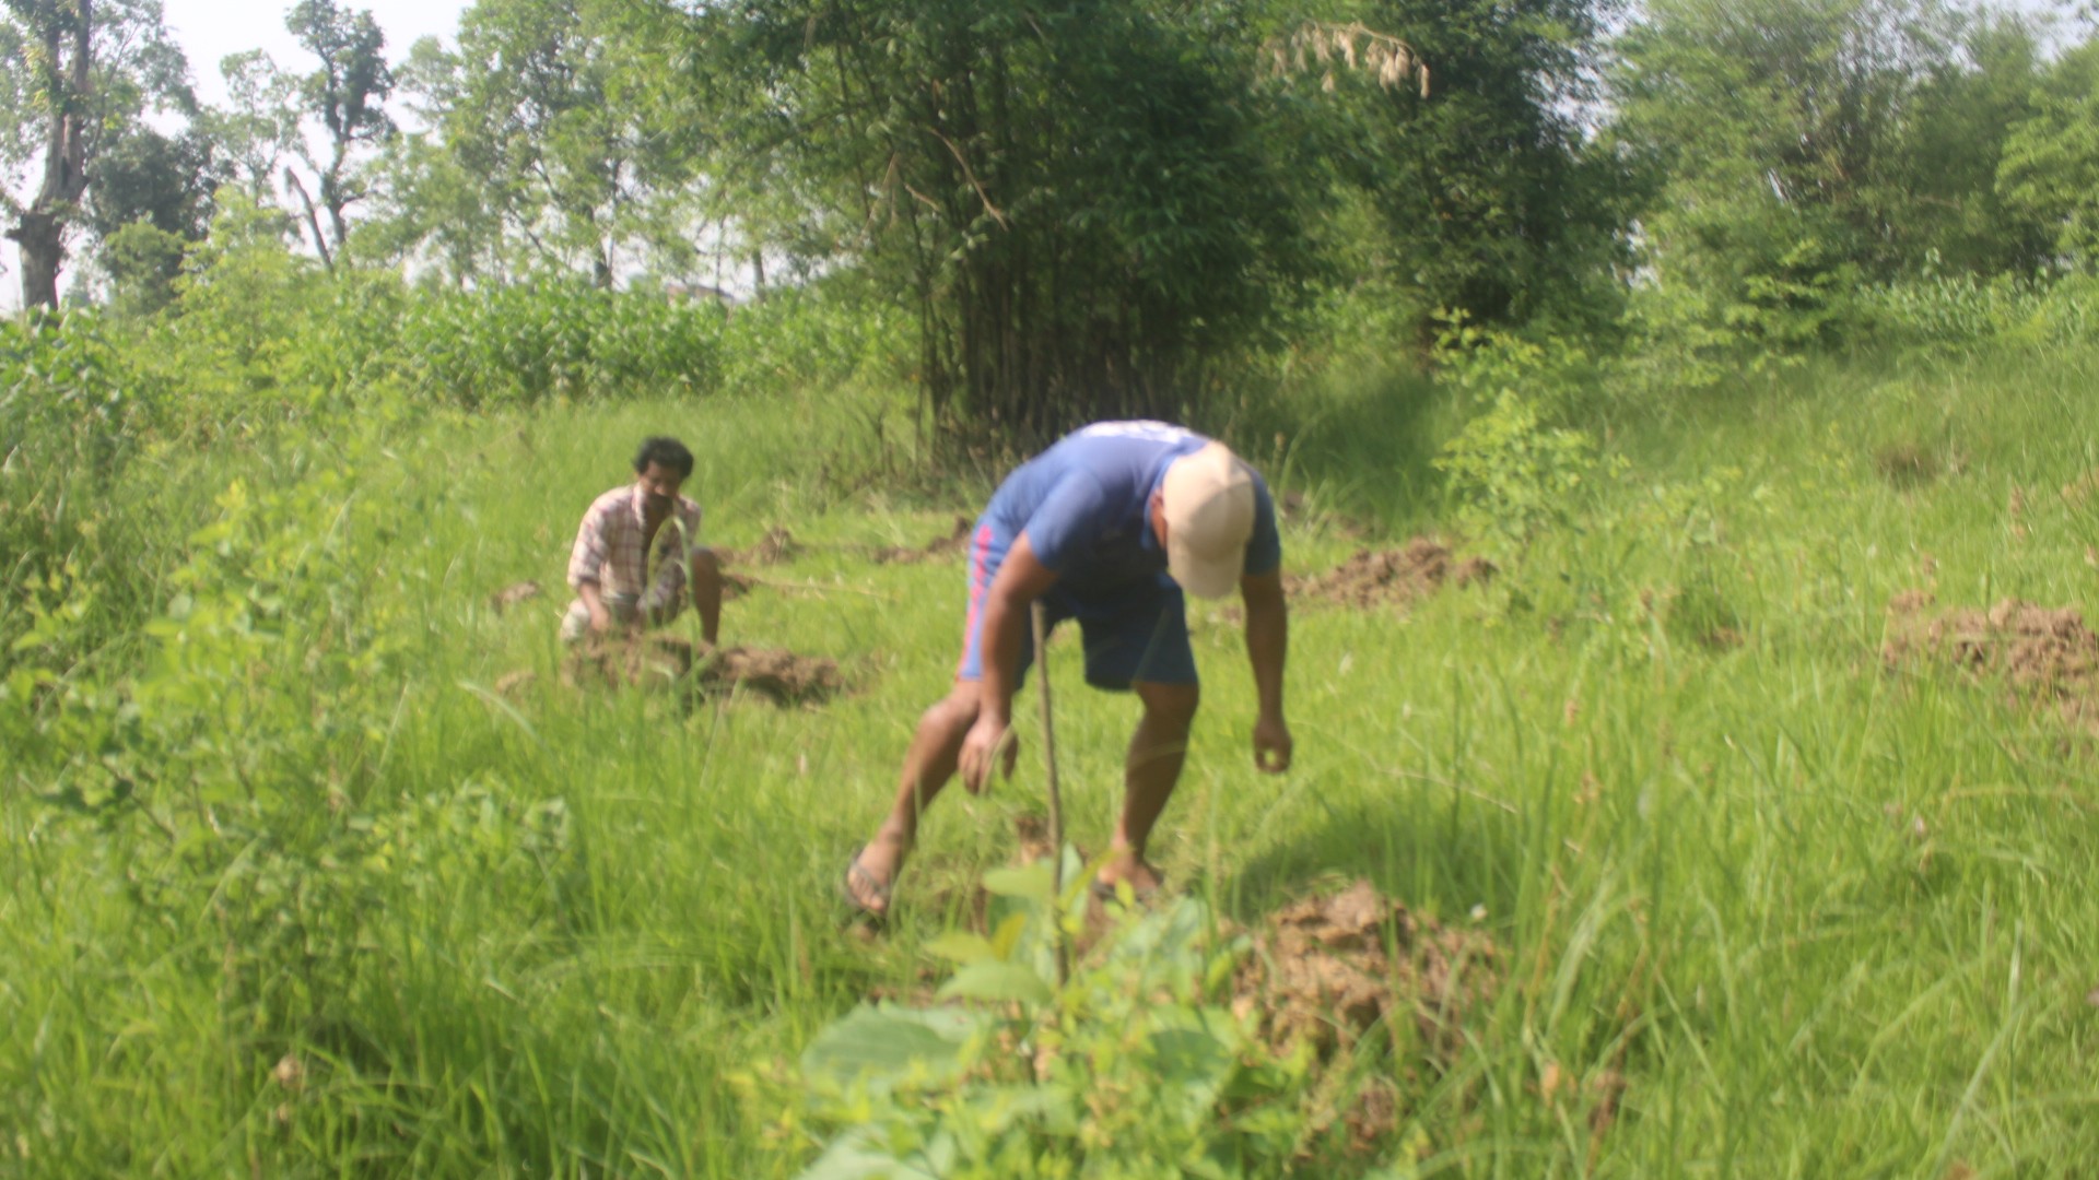
[[[1299,901],[1253,930],[1253,953],[1232,978],[1232,1010],[1259,1014],[1287,1050],[1352,1044],[1385,1020],[1411,1018],[1432,1052],[1457,1048],[1465,1012],[1494,993],[1501,951],[1486,934],[1417,918],[1371,886]]]

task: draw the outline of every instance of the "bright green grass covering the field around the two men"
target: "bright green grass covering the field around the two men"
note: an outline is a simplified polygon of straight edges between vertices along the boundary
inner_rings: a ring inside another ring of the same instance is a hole
[[[1484,913],[1511,985],[1459,1069],[1413,1083],[1461,1174],[2078,1174],[2099,1157],[2091,747],[1996,691],[1891,676],[1877,649],[1925,554],[1946,605],[2091,598],[2099,535],[2055,487],[2099,466],[2095,363],[1830,365],[1620,416],[1627,477],[1497,588],[1411,615],[1299,609],[1282,779],[1245,752],[1236,634],[1196,617],[1207,699],[1157,859],[1241,915],[1352,876],[1446,920]],[[8,787],[0,1174],[789,1174],[796,1142],[730,1077],[911,978],[938,899],[1039,806],[1031,724],[1020,779],[928,825],[903,930],[875,949],[835,932],[833,878],[949,674],[959,567],[817,548],[768,577],[831,590],[728,607],[737,642],[848,666],[863,691],[821,712],[577,697],[550,676],[563,598],[502,619],[483,598],[556,584],[577,510],[657,426],[697,443],[718,542],[770,523],[814,542],[942,531],[879,496],[812,514],[808,464],[850,430],[819,409],[548,409],[403,439],[401,468],[369,472],[403,502],[455,493],[426,514],[432,544],[399,554],[430,577],[428,649],[382,787],[558,796],[581,880],[554,922],[472,873],[403,886],[369,922],[384,970],[313,997],[336,1031],[306,1048],[325,1081],[288,1125],[277,1048],[227,1027],[214,978],[181,966],[208,934],[141,928],[90,842]],[[1392,430],[1421,422],[1337,407],[1282,470],[1404,533],[1434,504],[1394,493],[1429,481],[1425,447]],[[1874,466],[1893,445],[1954,470],[1897,489]],[[1287,542],[1299,567],[1348,552]],[[1746,642],[1704,647],[1644,592]],[[542,676],[516,714],[464,687],[521,666]],[[1081,691],[1068,645],[1052,668],[1075,836],[1098,844],[1131,705]],[[1608,1134],[1585,1096],[1541,1098],[1547,1065],[1625,1075]]]

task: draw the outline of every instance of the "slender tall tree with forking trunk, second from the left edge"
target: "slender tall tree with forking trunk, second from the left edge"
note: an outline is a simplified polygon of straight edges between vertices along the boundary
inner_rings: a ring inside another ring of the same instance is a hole
[[[300,101],[304,113],[317,118],[327,132],[325,155],[315,155],[304,136],[294,141],[294,149],[315,172],[319,212],[327,214],[327,237],[298,172],[285,170],[285,183],[306,208],[315,250],[334,267],[336,252],[351,235],[344,210],[367,193],[361,155],[395,134],[393,118],[386,115],[386,97],[395,84],[384,57],[386,34],[369,8],[353,13],[336,0],[300,0],[285,13],[283,25],[319,59],[319,67],[300,82]]]

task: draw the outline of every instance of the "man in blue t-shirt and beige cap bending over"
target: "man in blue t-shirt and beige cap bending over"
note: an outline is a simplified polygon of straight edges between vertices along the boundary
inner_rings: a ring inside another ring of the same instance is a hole
[[[1222,598],[1238,588],[1259,693],[1253,762],[1291,764],[1282,720],[1282,542],[1261,477],[1224,443],[1163,422],[1100,422],[1066,435],[999,485],[970,542],[970,615],[955,687],[926,710],[905,754],[896,804],[846,867],[846,897],[871,915],[917,838],[919,815],[955,771],[976,794],[993,762],[1012,775],[1014,693],[1035,659],[1029,607],[1050,624],[1077,619],[1085,680],[1131,691],[1144,718],[1125,762],[1123,817],[1096,878],[1159,888],[1144,861],[1152,823],[1180,779],[1199,687],[1182,590]]]

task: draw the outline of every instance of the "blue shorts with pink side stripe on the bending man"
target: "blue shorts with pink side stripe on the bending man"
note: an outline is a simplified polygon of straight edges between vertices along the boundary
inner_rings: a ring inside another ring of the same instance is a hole
[[[999,575],[1016,533],[978,521],[970,538],[970,619],[963,624],[957,680],[982,680],[984,594]],[[1085,682],[1096,689],[1127,691],[1133,680],[1152,684],[1194,684],[1194,649],[1188,645],[1188,607],[1171,577],[1121,586],[1108,594],[1075,594],[1052,586],[1043,594],[1050,628],[1079,619],[1085,640]],[[1035,663],[1035,628],[1020,634],[1020,670],[1014,687],[1026,682]]]

